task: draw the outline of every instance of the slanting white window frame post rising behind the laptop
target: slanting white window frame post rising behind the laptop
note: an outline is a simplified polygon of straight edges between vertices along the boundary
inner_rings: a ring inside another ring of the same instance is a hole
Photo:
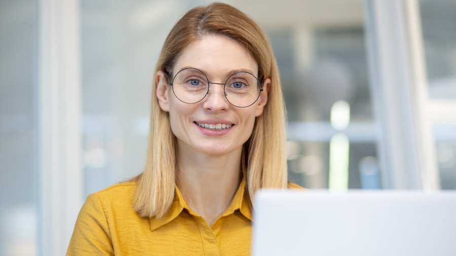
[[[365,10],[384,187],[438,189],[416,3],[366,0]]]

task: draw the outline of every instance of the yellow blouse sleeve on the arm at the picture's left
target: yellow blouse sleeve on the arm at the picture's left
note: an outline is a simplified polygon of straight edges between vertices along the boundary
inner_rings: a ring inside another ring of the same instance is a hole
[[[96,194],[87,197],[79,212],[66,255],[114,255],[104,209]]]

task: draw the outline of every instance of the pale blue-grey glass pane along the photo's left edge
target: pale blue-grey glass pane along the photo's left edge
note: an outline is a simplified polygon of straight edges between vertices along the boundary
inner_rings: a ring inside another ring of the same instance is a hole
[[[0,1],[0,255],[35,255],[36,1]]]

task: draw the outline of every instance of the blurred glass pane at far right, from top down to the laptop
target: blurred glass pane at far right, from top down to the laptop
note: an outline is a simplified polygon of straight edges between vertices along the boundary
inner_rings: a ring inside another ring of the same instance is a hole
[[[420,1],[430,104],[441,105],[441,115],[447,119],[433,123],[442,189],[456,189],[456,116],[451,105],[456,102],[454,10],[456,2],[451,0]]]

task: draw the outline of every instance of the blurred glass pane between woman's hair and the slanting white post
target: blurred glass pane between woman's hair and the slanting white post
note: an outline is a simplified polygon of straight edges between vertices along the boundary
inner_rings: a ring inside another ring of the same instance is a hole
[[[351,1],[347,16],[335,15],[347,8],[343,2],[292,5],[306,10],[311,4],[312,14],[305,15],[271,8],[271,16],[288,18],[279,28],[260,24],[271,37],[283,81],[289,179],[307,188],[381,188],[362,1]]]

